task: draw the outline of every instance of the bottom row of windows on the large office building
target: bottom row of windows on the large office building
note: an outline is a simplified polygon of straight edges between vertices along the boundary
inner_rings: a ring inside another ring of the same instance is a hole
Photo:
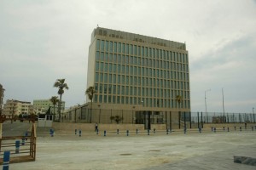
[[[140,97],[125,97],[115,95],[95,94],[94,101],[97,103],[122,104],[122,105],[143,105],[145,107],[164,108],[186,108],[189,109],[190,101],[183,100],[179,103],[176,99],[154,99]]]

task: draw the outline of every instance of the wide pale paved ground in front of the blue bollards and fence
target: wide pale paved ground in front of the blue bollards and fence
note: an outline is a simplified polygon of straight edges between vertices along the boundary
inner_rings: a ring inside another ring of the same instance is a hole
[[[36,161],[9,169],[255,169],[233,156],[256,157],[256,130],[212,133],[38,132]]]

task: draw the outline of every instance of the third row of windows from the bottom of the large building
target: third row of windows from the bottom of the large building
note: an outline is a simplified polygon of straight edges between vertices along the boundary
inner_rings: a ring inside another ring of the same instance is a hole
[[[183,78],[177,75],[177,77],[170,77],[171,79],[161,79],[161,76],[156,76],[159,78],[151,77],[132,77],[125,75],[116,75],[116,74],[107,74],[107,73],[98,73],[96,72],[95,82],[104,82],[109,84],[123,84],[123,85],[132,85],[132,86],[147,86],[155,88],[177,88],[177,89],[187,89],[189,90],[189,81],[187,78]],[[185,76],[184,76],[185,77]],[[179,79],[182,81],[173,81],[172,79]]]

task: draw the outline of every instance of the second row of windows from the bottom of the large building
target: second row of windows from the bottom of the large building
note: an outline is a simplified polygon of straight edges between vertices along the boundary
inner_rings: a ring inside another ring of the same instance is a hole
[[[175,99],[177,95],[183,96],[183,99],[189,99],[189,90],[173,90],[166,88],[142,88],[132,86],[120,86],[111,84],[95,84],[96,94],[121,94],[130,96],[147,96],[158,98]]]

